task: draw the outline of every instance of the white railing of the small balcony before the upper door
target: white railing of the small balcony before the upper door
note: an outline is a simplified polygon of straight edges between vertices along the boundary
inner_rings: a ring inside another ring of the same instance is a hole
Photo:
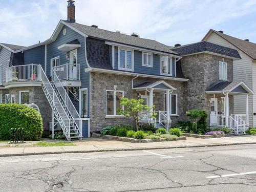
[[[66,63],[53,68],[59,80],[80,80],[80,65]]]

